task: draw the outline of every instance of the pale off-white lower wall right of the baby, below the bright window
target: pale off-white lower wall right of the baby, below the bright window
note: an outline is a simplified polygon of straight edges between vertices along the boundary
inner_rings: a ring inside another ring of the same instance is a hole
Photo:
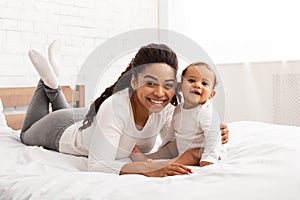
[[[300,126],[300,61],[217,66],[225,90],[225,121]]]

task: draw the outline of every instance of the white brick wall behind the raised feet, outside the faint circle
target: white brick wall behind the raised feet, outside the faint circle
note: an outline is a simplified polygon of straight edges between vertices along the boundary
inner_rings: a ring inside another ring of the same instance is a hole
[[[0,0],[0,87],[35,86],[29,49],[61,49],[61,83],[74,84],[80,66],[106,39],[158,28],[157,0]],[[160,25],[161,26],[161,25]]]

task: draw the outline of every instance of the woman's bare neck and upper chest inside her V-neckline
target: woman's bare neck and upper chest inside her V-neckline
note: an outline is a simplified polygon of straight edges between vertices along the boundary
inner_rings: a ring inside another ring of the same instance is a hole
[[[134,123],[138,129],[145,126],[149,118],[149,110],[147,110],[139,101],[136,93],[132,93],[130,96],[130,103],[133,112]]]

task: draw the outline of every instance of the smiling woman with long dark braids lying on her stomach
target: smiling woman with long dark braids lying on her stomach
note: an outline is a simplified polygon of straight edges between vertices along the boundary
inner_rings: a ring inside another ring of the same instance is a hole
[[[50,46],[50,58],[52,53]],[[151,177],[191,173],[174,162],[121,161],[130,156],[135,145],[149,152],[157,135],[168,129],[170,103],[177,104],[178,68],[177,56],[169,47],[150,44],[140,48],[117,82],[93,102],[83,121],[82,110],[66,109],[56,70],[51,67],[55,66],[53,59],[49,65],[35,51],[30,51],[29,57],[41,80],[21,131],[24,144],[87,156],[89,171]],[[49,103],[54,112],[49,113]],[[187,155],[184,160],[192,162]]]

